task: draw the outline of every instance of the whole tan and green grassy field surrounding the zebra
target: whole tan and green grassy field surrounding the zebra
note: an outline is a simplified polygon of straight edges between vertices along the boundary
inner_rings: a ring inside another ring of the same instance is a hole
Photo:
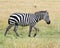
[[[35,8],[36,6],[36,8]],[[13,28],[4,36],[7,20],[13,12],[34,13],[47,10],[51,24],[43,20],[37,23],[39,32],[34,38],[28,37],[29,27],[18,28],[20,37],[13,32]],[[22,34],[22,35],[21,35]],[[60,1],[59,0],[0,0],[0,48],[60,48]]]

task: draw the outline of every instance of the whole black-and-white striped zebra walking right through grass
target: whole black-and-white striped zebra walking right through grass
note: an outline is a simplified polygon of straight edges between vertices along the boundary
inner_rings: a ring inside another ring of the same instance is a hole
[[[19,34],[17,33],[18,26],[29,26],[29,34],[28,36],[31,36],[32,28],[35,29],[34,37],[37,35],[38,28],[35,27],[36,23],[38,23],[40,20],[44,20],[47,24],[50,24],[49,19],[49,13],[48,11],[37,11],[35,13],[12,13],[8,19],[8,27],[5,31],[5,36],[7,34],[7,31],[14,26],[14,32],[17,36]]]

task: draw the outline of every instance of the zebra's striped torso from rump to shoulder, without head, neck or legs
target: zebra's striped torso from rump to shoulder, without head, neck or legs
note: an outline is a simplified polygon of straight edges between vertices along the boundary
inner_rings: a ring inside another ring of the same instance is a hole
[[[34,26],[36,22],[36,16],[30,13],[13,13],[8,19],[8,24],[21,26]]]

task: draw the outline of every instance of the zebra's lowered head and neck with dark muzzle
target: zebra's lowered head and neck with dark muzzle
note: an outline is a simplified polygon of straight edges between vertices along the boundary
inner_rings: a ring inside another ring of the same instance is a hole
[[[44,20],[47,24],[50,24],[50,19],[49,19],[49,14],[47,11],[39,11],[39,12],[35,12],[36,17],[39,20]]]

